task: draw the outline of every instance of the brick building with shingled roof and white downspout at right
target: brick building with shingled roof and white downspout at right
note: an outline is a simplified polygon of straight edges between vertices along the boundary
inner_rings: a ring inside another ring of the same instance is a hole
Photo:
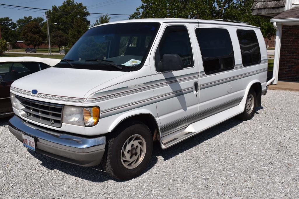
[[[299,82],[299,0],[255,0],[253,15],[271,16],[276,28],[273,84]]]

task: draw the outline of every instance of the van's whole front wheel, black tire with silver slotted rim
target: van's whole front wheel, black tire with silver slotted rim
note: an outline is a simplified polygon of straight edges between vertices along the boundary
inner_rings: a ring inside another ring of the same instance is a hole
[[[112,177],[128,180],[140,175],[152,156],[152,134],[140,122],[118,127],[106,143],[102,166]]]

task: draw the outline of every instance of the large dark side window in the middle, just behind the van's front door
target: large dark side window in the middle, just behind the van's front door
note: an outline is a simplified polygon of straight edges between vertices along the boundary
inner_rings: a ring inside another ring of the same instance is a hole
[[[234,68],[234,50],[226,29],[197,28],[196,37],[202,53],[205,74]]]

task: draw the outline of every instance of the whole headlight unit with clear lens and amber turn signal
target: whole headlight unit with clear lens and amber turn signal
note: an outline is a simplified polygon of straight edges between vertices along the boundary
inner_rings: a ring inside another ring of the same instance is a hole
[[[80,106],[64,106],[62,123],[79,126],[94,126],[100,118],[100,108],[83,108]]]

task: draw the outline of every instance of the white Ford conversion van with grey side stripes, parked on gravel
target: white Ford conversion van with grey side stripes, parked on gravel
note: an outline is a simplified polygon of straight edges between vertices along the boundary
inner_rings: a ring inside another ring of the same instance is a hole
[[[166,149],[239,115],[266,94],[259,27],[134,19],[90,28],[51,68],[13,82],[9,130],[23,146],[126,180]],[[172,150],[176,150],[173,148]]]

